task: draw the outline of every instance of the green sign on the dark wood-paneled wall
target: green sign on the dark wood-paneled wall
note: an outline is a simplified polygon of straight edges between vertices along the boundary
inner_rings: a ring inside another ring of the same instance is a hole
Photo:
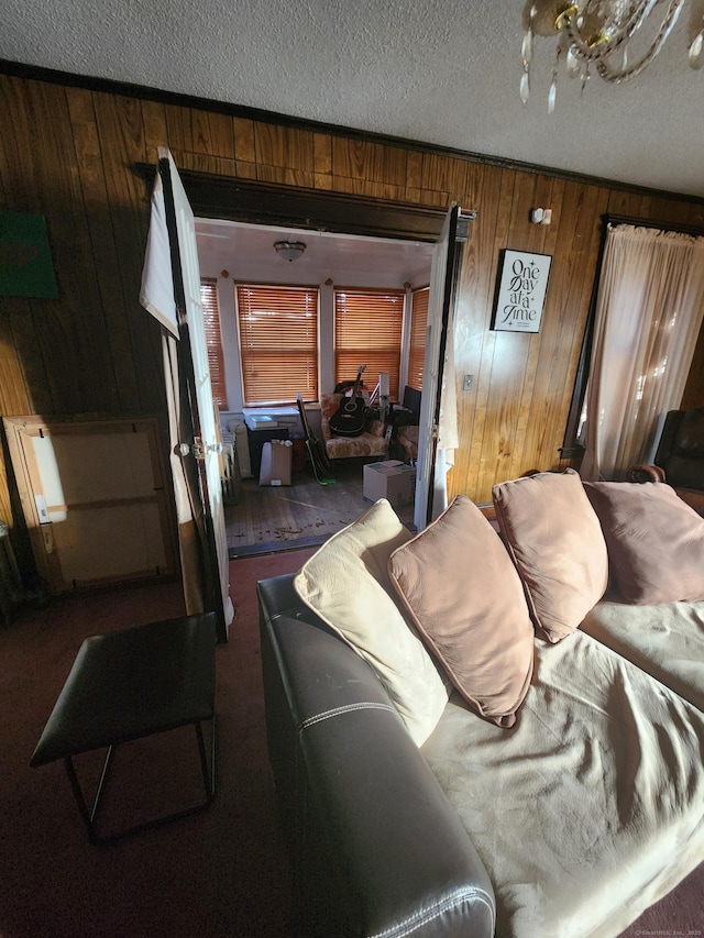
[[[58,297],[44,216],[0,212],[0,296]]]

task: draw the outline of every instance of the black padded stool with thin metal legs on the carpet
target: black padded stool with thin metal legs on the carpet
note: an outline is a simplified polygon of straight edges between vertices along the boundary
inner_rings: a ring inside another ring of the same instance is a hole
[[[215,796],[215,614],[187,616],[135,626],[84,641],[30,764],[64,759],[81,816],[94,842],[193,813],[178,812],[148,824],[101,837],[96,828],[100,793],[112,748],[144,736],[193,724],[201,755],[206,807]],[[205,759],[201,724],[212,722],[210,768]],[[73,757],[109,749],[103,777],[89,812],[76,777]]]

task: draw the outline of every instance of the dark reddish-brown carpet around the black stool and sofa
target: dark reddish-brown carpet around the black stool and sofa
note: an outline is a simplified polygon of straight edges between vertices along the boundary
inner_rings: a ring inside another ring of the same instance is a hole
[[[230,641],[217,651],[213,805],[109,847],[88,845],[63,765],[30,769],[29,760],[82,639],[183,615],[180,586],[68,597],[0,629],[0,938],[288,936],[288,869],[266,758],[255,582],[297,570],[312,552],[231,563],[237,616]],[[119,750],[124,755],[116,760],[108,792],[110,815],[131,812],[132,796],[147,790],[157,799],[188,803],[191,791],[200,797],[191,785],[198,781],[194,750],[182,730]],[[95,776],[97,761],[84,760],[79,770]],[[704,869],[624,934],[704,935]]]

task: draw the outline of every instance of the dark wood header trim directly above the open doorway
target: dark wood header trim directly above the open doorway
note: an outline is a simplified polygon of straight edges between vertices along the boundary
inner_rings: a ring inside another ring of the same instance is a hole
[[[156,166],[135,163],[133,169],[151,194]],[[443,207],[426,207],[352,196],[321,189],[257,183],[180,169],[195,214],[250,224],[366,234],[411,241],[437,241],[447,214]],[[458,240],[466,241],[474,212],[463,212]]]

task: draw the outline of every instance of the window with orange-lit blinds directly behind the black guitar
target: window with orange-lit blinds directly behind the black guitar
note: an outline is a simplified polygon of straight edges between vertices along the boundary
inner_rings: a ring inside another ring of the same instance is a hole
[[[388,372],[389,395],[398,400],[404,290],[334,291],[336,383],[351,380],[366,365],[366,385]]]

